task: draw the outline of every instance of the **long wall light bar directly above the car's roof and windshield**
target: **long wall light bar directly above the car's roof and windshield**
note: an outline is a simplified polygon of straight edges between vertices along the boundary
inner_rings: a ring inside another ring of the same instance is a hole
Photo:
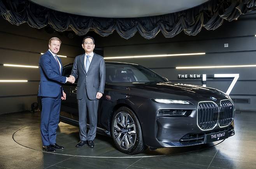
[[[166,56],[188,56],[188,55],[205,55],[205,53],[181,53],[181,54],[164,54],[164,55],[139,55],[139,56],[117,56],[117,57],[104,57],[104,59],[128,59],[128,58],[141,58],[141,57],[166,57]]]

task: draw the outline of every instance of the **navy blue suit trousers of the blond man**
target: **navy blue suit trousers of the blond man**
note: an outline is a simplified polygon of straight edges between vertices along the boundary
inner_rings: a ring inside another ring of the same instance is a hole
[[[42,97],[41,137],[43,145],[56,143],[56,130],[60,119],[61,90],[58,97]]]

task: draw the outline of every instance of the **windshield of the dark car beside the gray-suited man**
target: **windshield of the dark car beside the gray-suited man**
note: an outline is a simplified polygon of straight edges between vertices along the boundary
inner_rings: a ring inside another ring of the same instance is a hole
[[[106,83],[167,82],[155,72],[139,65],[106,64]]]

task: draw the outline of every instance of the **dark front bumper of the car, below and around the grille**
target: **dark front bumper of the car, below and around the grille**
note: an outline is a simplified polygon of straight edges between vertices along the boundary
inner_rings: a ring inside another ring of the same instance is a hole
[[[160,109],[187,109],[189,116],[156,116]],[[145,112],[147,110],[147,112]],[[228,137],[233,136],[234,122],[228,126],[215,125],[212,129],[203,130],[198,126],[197,107],[194,105],[169,105],[155,103],[152,100],[140,106],[137,116],[142,126],[144,142],[148,147],[183,147],[204,144],[210,133],[228,131]]]

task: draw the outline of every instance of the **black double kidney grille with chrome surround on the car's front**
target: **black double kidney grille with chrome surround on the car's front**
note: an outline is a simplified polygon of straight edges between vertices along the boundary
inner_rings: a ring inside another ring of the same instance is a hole
[[[228,126],[234,115],[234,105],[230,100],[221,100],[220,107],[214,102],[200,102],[197,109],[198,126],[202,130]]]

